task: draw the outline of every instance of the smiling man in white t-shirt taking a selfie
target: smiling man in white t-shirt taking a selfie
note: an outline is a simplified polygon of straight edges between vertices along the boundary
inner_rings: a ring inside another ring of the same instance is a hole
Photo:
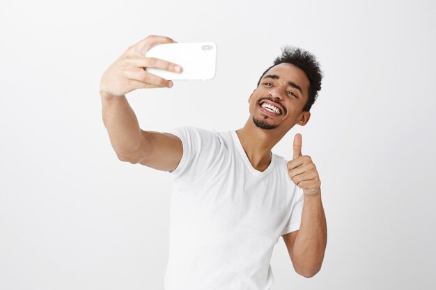
[[[125,94],[137,88],[171,88],[147,67],[182,68],[144,57],[171,38],[150,35],[104,72],[102,115],[121,161],[171,172],[169,262],[165,289],[270,289],[270,258],[280,236],[295,271],[320,270],[327,243],[320,178],[295,135],[293,160],[271,149],[295,125],[304,126],[320,90],[315,58],[287,49],[260,77],[249,97],[249,119],[237,131],[178,127],[143,131]]]

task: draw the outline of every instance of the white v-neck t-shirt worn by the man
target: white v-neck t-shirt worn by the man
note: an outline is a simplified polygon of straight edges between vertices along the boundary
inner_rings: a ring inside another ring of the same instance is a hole
[[[169,216],[166,290],[268,290],[280,236],[299,229],[302,189],[272,154],[260,172],[235,131],[169,131],[182,140]]]

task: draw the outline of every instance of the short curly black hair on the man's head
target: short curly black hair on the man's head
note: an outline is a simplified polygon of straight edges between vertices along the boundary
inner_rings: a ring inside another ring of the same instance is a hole
[[[274,64],[263,72],[262,76],[258,81],[258,85],[260,80],[263,78],[265,73],[276,65],[281,63],[291,63],[296,67],[299,67],[303,72],[306,73],[307,78],[310,81],[309,85],[309,97],[307,98],[307,102],[304,105],[303,111],[310,111],[313,103],[318,97],[318,91],[321,90],[321,80],[322,80],[322,72],[320,69],[320,64],[316,61],[315,56],[311,54],[309,51],[305,51],[304,49],[300,49],[299,47],[286,46],[281,48],[281,56],[278,56],[274,60]]]

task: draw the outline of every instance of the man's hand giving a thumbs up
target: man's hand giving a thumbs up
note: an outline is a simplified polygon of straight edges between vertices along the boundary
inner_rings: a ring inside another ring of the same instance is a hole
[[[316,195],[321,191],[321,181],[310,156],[302,155],[302,135],[295,134],[293,160],[288,162],[290,179],[306,195]]]

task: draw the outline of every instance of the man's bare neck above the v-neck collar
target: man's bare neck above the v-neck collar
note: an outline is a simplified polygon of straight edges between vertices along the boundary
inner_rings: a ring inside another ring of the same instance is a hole
[[[258,171],[265,171],[271,163],[272,147],[283,138],[286,132],[260,129],[252,120],[247,120],[244,127],[236,130],[236,134],[238,134],[251,166]]]

